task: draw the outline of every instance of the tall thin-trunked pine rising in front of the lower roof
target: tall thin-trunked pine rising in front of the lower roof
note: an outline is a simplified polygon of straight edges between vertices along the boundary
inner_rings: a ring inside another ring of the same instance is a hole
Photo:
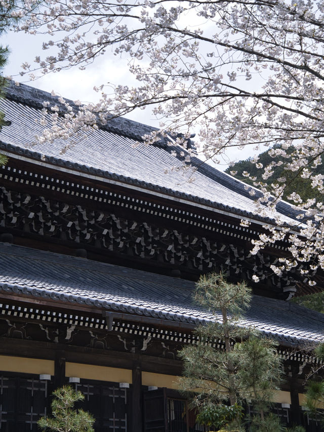
[[[255,412],[249,418],[252,427],[277,432],[279,419],[268,411],[280,382],[279,357],[271,340],[239,325],[250,305],[251,290],[213,273],[199,279],[195,302],[214,317],[196,330],[197,343],[179,353],[184,362],[182,388],[195,391],[192,403],[199,412],[197,420],[241,430],[247,420],[242,419],[243,407],[250,405]]]

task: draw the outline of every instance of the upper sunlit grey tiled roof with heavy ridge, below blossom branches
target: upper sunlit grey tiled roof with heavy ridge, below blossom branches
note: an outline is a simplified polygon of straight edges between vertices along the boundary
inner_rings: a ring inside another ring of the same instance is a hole
[[[42,126],[35,123],[41,119],[43,101],[58,104],[51,94],[26,85],[15,86],[10,82],[7,99],[0,107],[6,113],[6,120],[12,122],[0,134],[0,149],[16,152],[27,158],[45,161],[76,173],[93,174],[103,179],[118,180],[141,188],[159,191],[172,197],[183,198],[195,205],[204,204],[228,213],[270,221],[261,217],[245,184],[231,176],[192,158],[197,168],[195,180],[188,182],[189,174],[180,168],[180,147],[169,147],[165,142],[145,146],[141,137],[154,128],[128,119],[112,119],[98,131],[92,132],[77,145],[60,154],[66,141],[36,144],[35,135],[42,132]],[[178,157],[171,155],[176,150]],[[164,173],[167,170],[168,173]],[[294,210],[284,202],[277,206],[282,221],[293,217]]]

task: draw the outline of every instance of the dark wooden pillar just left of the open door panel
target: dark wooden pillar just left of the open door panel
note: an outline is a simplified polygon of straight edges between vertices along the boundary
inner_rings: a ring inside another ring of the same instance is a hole
[[[132,373],[132,432],[142,432],[143,410],[142,410],[142,369],[140,362],[134,362]]]

